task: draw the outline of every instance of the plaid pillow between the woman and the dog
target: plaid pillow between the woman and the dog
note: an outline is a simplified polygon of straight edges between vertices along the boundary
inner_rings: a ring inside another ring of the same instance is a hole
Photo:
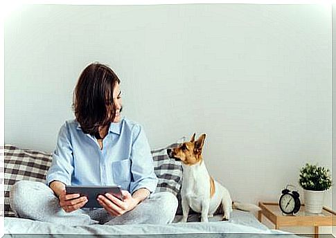
[[[177,195],[182,185],[182,164],[180,161],[175,161],[169,158],[167,154],[168,148],[177,147],[175,143],[168,147],[152,150],[154,161],[154,171],[159,178],[157,189],[155,192],[172,192]]]

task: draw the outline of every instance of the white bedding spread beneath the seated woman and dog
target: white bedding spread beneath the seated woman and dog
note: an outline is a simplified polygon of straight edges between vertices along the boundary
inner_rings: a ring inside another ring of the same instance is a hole
[[[197,219],[197,215],[190,217],[190,220]],[[179,221],[177,216],[175,221]],[[219,216],[209,219],[209,223],[188,222],[188,223],[171,223],[167,225],[127,225],[127,226],[64,226],[55,223],[46,223],[42,221],[33,221],[29,219],[19,219],[15,217],[5,217],[5,237],[18,237],[20,234],[72,234],[72,235],[163,235],[163,234],[212,234],[211,237],[222,237],[222,234],[242,235],[246,233],[251,235],[283,234],[278,230],[269,230],[260,223],[253,214],[234,210],[231,214],[230,221],[218,221]],[[10,235],[16,234],[16,235]],[[288,236],[296,237],[289,234]],[[55,237],[55,236],[53,236]],[[169,236],[168,236],[169,237]],[[227,236],[226,236],[227,237]],[[236,237],[236,236],[235,236]],[[250,236],[249,236],[250,237]],[[286,236],[287,237],[287,236]]]

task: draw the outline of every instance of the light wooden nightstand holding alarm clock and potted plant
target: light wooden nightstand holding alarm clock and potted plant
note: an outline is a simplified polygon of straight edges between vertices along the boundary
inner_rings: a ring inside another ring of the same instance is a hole
[[[258,220],[261,222],[262,214],[274,223],[275,228],[280,226],[314,226],[315,238],[319,237],[319,226],[336,226],[336,212],[326,207],[321,214],[306,214],[305,206],[295,216],[284,215],[278,203],[259,202],[261,210],[258,212]]]

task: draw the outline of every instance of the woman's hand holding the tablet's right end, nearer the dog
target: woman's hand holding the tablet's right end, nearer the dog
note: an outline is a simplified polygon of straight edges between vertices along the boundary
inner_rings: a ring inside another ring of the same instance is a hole
[[[138,199],[134,199],[130,192],[122,190],[123,201],[116,198],[112,194],[106,193],[105,196],[99,195],[97,201],[100,205],[109,212],[112,216],[119,217],[125,212],[128,212],[139,204]]]

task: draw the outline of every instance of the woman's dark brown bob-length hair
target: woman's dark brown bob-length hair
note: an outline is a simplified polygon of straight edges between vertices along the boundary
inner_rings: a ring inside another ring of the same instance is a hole
[[[105,64],[92,63],[80,74],[73,91],[72,108],[85,134],[96,136],[98,127],[109,125],[116,116],[113,90],[118,76]]]

